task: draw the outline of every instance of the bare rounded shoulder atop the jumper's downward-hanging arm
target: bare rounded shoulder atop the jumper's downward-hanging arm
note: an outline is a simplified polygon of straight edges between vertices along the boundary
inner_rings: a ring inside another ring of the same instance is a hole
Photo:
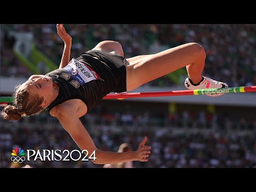
[[[87,106],[80,99],[70,99],[51,109],[50,115],[53,117],[70,116],[76,114],[78,118],[87,113]]]

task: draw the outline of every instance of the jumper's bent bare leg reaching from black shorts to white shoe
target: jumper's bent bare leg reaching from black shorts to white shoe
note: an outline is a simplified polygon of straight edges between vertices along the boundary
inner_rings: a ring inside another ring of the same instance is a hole
[[[202,84],[203,79],[205,79],[202,77],[205,58],[204,48],[197,43],[187,43],[156,54],[128,58],[126,89],[127,91],[134,90],[147,82],[185,66],[188,72],[188,79],[194,85]],[[212,79],[211,83],[214,87],[215,85],[216,87],[227,86],[227,84],[213,81]],[[188,86],[187,88],[189,89]]]

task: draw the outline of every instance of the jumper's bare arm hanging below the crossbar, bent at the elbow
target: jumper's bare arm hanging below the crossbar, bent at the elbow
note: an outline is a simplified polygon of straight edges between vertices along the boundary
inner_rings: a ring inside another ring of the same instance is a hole
[[[110,151],[100,151],[94,145],[89,133],[85,130],[82,122],[76,115],[75,107],[66,106],[67,110],[61,109],[61,113],[57,115],[61,125],[74,139],[76,144],[81,150],[86,150],[87,157],[90,157],[93,153],[96,157],[95,161],[90,159],[94,164],[116,164],[129,161],[141,161],[147,162],[150,154],[151,147],[145,146],[147,138],[145,137],[136,151],[129,151],[125,153],[115,153]]]

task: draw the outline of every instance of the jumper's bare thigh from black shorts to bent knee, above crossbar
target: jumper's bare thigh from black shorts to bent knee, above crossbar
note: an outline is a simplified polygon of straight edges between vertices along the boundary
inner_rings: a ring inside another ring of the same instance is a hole
[[[156,54],[131,58],[127,83],[131,87],[138,87],[191,63],[204,60],[204,48],[197,43],[187,43]]]

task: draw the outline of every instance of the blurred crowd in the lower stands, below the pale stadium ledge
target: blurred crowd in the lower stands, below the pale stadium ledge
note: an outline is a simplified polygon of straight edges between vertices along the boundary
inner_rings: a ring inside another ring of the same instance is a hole
[[[170,121],[155,115],[140,113],[99,114],[89,113],[81,118],[100,150],[117,151],[127,142],[136,150],[138,142],[147,136],[152,154],[147,163],[134,162],[134,167],[256,167],[256,121],[217,117],[204,118],[199,111],[186,121],[187,111],[176,114]],[[223,121],[224,120],[224,121]],[[39,116],[23,118],[20,122],[1,119],[1,166],[15,167],[10,161],[11,149],[23,150],[79,150],[70,135],[46,112]],[[10,129],[10,124],[12,129]],[[35,157],[35,156],[34,156]],[[33,158],[34,158],[33,157]],[[31,160],[31,159],[30,159]],[[26,161],[32,167],[94,167],[90,161]]]

